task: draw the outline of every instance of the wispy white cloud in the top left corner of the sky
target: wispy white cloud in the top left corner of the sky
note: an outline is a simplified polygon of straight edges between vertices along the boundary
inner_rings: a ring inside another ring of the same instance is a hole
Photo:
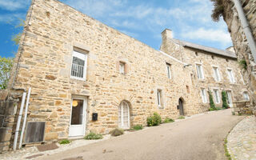
[[[30,0],[0,0],[0,8],[3,10],[22,10],[30,5]]]

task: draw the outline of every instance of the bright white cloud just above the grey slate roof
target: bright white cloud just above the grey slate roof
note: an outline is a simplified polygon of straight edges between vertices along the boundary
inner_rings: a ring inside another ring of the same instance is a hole
[[[182,33],[183,38],[188,39],[199,39],[210,42],[221,42],[222,45],[226,46],[230,44],[230,34],[221,29],[205,29],[199,28],[198,30],[190,30],[186,33]]]

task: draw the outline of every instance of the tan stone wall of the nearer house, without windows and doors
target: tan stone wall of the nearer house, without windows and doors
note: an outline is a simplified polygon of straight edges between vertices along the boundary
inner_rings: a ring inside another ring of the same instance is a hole
[[[28,122],[46,122],[45,141],[68,137],[74,95],[88,100],[86,132],[103,134],[118,126],[122,100],[130,104],[131,126],[146,125],[154,112],[178,118],[179,98],[185,114],[208,109],[198,107],[200,95],[193,91],[190,70],[181,62],[61,2],[35,0],[32,5],[13,87],[32,87]],[[86,81],[70,78],[74,47],[89,52]],[[119,74],[119,61],[126,62],[126,74]],[[167,78],[166,62],[171,64],[172,79]],[[162,109],[157,105],[158,89],[163,93]],[[94,112],[97,122],[91,121]]]

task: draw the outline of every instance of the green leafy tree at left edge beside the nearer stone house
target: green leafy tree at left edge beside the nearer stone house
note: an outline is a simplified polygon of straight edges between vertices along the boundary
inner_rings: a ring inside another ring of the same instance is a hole
[[[0,56],[0,90],[6,90],[12,66],[13,58],[2,58]]]

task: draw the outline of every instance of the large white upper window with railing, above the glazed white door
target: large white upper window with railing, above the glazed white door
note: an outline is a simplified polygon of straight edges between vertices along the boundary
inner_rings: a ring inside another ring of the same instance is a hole
[[[87,55],[73,51],[71,77],[73,78],[86,78],[86,61]]]

